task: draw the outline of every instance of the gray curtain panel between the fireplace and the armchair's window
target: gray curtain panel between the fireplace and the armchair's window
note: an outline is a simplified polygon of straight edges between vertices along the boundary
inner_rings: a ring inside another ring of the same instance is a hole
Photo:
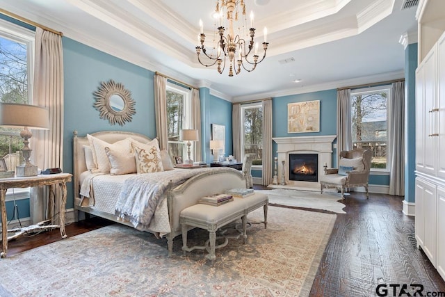
[[[337,156],[353,147],[351,125],[350,89],[337,90]]]

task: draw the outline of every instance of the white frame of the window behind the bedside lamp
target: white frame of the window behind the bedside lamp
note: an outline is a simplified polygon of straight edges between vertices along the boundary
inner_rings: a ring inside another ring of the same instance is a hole
[[[192,90],[190,88],[186,88],[177,83],[172,83],[171,81],[167,81],[165,83],[165,92],[170,91],[172,93],[179,93],[184,98],[184,113],[182,115],[183,127],[181,129],[192,129],[193,118],[192,118]],[[179,131],[181,130],[179,129]],[[185,160],[187,156],[187,145],[184,141],[168,141],[168,145],[170,143],[177,143],[178,145],[182,145],[182,159]],[[170,151],[170,150],[168,150]],[[191,156],[193,156],[193,145],[190,147]],[[172,162],[175,163],[175,156],[170,156],[172,158]]]

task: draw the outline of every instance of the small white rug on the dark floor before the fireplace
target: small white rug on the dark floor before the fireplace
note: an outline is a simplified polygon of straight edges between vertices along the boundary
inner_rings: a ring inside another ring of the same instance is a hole
[[[323,209],[346,214],[343,211],[345,204],[338,202],[341,200],[340,193],[324,193],[314,191],[288,190],[285,188],[274,188],[273,190],[255,190],[264,193],[269,198],[270,204],[280,204],[290,207],[305,207],[308,209]]]

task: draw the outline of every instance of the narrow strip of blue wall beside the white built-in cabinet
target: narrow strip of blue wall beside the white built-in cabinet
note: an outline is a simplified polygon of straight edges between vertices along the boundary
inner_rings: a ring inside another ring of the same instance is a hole
[[[415,202],[417,43],[405,49],[405,201]]]

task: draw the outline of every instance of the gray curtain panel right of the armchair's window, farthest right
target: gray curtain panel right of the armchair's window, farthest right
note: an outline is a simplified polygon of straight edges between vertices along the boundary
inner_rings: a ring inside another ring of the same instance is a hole
[[[405,81],[392,83],[388,100],[389,195],[405,195]]]

